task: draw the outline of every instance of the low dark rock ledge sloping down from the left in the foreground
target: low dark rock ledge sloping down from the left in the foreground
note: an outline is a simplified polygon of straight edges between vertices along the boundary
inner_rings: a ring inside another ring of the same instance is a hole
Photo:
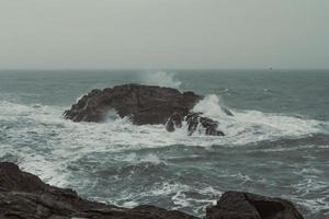
[[[196,219],[149,205],[127,209],[86,200],[75,191],[47,185],[9,162],[0,162],[0,218]]]

